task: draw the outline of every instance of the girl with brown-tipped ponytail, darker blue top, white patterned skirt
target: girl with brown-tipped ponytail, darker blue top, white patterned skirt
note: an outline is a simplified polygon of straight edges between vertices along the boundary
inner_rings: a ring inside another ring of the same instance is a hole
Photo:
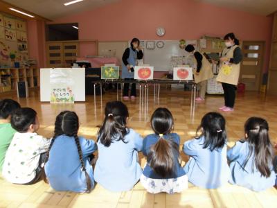
[[[179,162],[180,137],[172,133],[171,112],[159,107],[151,117],[154,134],[143,139],[143,155],[147,164],[141,175],[141,184],[150,193],[179,193],[188,188],[188,177]]]

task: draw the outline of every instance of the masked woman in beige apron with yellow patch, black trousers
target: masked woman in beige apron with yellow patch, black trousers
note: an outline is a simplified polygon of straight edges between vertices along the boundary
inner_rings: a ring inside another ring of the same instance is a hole
[[[234,110],[235,88],[238,85],[240,76],[240,62],[242,61],[242,50],[240,42],[233,33],[224,36],[225,49],[220,58],[220,71],[217,76],[217,82],[222,83],[224,91],[225,105],[220,107],[224,112]]]

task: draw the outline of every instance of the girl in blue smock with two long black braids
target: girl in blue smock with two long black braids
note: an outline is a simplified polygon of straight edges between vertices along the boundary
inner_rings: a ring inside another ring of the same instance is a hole
[[[94,187],[89,158],[97,146],[93,140],[78,137],[78,130],[79,119],[75,112],[64,111],[57,115],[44,167],[48,182],[57,191],[89,193]]]

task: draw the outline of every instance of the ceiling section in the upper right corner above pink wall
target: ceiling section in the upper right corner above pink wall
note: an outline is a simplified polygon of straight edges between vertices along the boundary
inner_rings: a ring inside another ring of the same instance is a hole
[[[277,10],[277,0],[196,0],[247,12],[270,15]]]

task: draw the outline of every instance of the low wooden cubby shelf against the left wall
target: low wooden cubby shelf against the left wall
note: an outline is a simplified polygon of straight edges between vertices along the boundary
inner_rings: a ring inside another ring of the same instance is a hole
[[[0,69],[0,92],[16,91],[19,81],[27,82],[30,88],[39,87],[39,69],[36,66]]]

